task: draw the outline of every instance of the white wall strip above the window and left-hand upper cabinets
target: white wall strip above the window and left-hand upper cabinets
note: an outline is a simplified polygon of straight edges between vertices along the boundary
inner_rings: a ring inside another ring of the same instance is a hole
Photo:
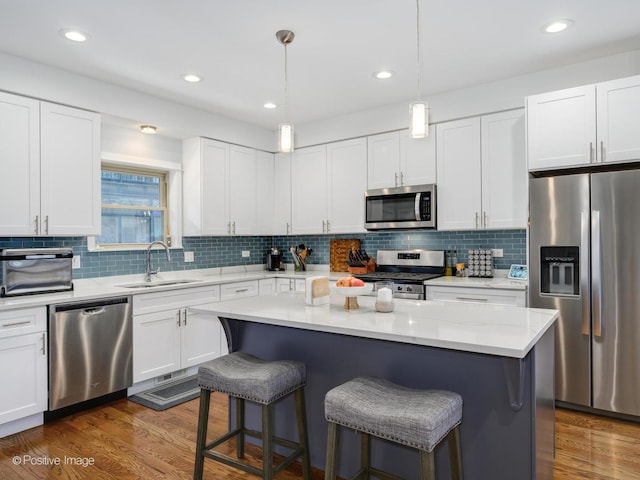
[[[274,149],[275,135],[264,128],[2,52],[0,65],[0,90],[150,123],[178,138],[202,136]]]

